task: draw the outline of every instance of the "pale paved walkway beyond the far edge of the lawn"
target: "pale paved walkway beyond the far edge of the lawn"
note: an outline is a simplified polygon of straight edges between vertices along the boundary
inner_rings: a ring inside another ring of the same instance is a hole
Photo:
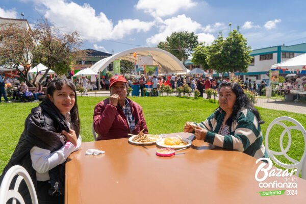
[[[96,92],[91,91],[88,93],[89,94],[87,96],[109,96],[110,95],[109,91],[96,91]],[[193,94],[191,96],[193,97]],[[204,94],[204,97],[206,98],[207,95]],[[288,112],[293,112],[293,113],[306,114],[306,102],[305,101],[297,101],[295,103],[294,101],[284,101],[281,99],[269,98],[269,102],[268,102],[267,98],[257,98],[257,103],[255,104],[255,106],[266,108],[266,109],[278,110],[278,111],[288,111]]]

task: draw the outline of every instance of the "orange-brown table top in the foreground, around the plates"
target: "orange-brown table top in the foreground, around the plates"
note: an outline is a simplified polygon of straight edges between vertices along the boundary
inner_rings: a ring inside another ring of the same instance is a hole
[[[254,176],[259,164],[242,152],[195,140],[162,158],[156,145],[145,147],[127,138],[83,143],[66,164],[65,203],[305,203],[306,181],[296,176],[297,195],[260,196],[258,191],[290,189],[260,188]],[[89,148],[106,153],[87,156]],[[265,182],[273,181],[284,178]]]

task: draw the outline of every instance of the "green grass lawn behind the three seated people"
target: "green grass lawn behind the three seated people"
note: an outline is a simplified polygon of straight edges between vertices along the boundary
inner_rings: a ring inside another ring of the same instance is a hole
[[[92,115],[95,105],[105,97],[78,97],[78,105],[81,117],[81,135],[83,142],[93,141],[91,133]],[[132,97],[139,103],[147,121],[148,130],[151,134],[182,132],[186,121],[203,121],[216,108],[217,104],[212,104],[206,99],[178,98],[174,96],[163,97]],[[0,172],[10,159],[13,150],[24,128],[25,118],[29,115],[32,108],[38,103],[13,103],[0,104]],[[269,123],[280,116],[289,116],[298,120],[303,126],[306,126],[305,115],[290,113],[285,111],[275,111],[258,108],[265,123],[262,124],[262,132],[265,135]],[[272,130],[271,149],[279,150],[279,134],[282,127]],[[288,137],[284,137],[284,144],[288,143]],[[299,133],[293,134],[292,147],[289,155],[296,160],[300,160],[304,140]],[[283,161],[284,158],[281,158]]]

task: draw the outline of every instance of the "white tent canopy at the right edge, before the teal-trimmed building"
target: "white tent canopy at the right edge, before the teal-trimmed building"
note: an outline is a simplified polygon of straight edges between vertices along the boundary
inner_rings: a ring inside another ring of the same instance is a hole
[[[286,60],[284,62],[281,63],[277,63],[271,66],[272,69],[275,68],[282,68],[282,69],[291,69],[291,70],[295,70],[295,69],[299,69],[301,70],[302,68],[305,68],[306,65],[306,53],[296,56],[294,58],[291,58],[289,60]]]

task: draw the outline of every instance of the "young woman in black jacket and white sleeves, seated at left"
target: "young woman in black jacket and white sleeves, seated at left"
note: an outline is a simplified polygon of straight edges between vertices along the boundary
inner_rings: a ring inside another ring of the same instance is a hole
[[[39,203],[64,203],[65,161],[82,143],[77,93],[71,81],[61,78],[50,82],[46,93],[25,120],[0,183],[10,167],[21,165],[31,175]],[[24,181],[19,189],[25,202],[31,203]]]

